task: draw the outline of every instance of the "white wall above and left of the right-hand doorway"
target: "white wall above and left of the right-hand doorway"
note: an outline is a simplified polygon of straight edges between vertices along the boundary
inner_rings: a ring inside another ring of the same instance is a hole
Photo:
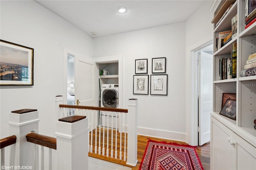
[[[206,1],[197,12],[195,12],[186,21],[186,142],[188,144],[197,145],[195,138],[196,127],[192,126],[192,122],[195,122],[194,107],[191,105],[194,90],[193,84],[193,70],[191,65],[196,64],[192,59],[191,51],[210,42],[213,39],[213,24],[211,23],[213,18],[213,12],[209,12],[209,8],[212,4],[211,0]]]

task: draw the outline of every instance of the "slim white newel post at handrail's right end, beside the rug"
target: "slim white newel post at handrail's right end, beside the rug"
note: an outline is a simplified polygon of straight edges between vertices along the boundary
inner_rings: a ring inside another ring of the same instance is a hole
[[[127,162],[126,164],[136,166],[137,143],[138,143],[138,100],[129,99],[128,101],[128,139],[127,139]]]

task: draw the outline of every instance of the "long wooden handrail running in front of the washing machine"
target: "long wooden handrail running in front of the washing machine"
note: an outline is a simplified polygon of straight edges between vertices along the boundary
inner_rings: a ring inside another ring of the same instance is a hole
[[[96,111],[128,113],[128,109],[118,109],[118,108],[110,108],[110,107],[77,106],[77,105],[59,105],[59,106],[64,108],[72,108],[72,109],[88,109],[88,110],[96,110]]]

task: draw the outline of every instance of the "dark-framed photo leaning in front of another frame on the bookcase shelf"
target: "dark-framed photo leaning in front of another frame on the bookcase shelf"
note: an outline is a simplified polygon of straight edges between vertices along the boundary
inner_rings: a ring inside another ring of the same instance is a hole
[[[227,99],[220,111],[220,115],[236,120],[236,101]]]

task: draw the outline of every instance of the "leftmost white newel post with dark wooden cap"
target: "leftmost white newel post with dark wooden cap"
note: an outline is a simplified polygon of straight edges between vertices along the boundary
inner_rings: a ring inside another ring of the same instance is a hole
[[[12,111],[9,115],[10,135],[16,135],[16,144],[10,148],[10,166],[34,167],[34,144],[27,142],[26,134],[34,131],[38,133],[38,111],[36,109],[22,109]],[[18,168],[19,169],[19,168]]]

